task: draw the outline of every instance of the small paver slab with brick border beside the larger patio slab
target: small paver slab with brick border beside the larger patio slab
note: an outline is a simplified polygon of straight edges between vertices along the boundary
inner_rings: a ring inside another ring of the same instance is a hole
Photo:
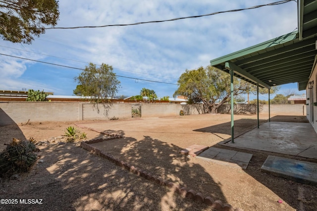
[[[222,165],[246,169],[252,156],[253,155],[249,153],[241,153],[233,150],[211,147],[197,156],[197,158],[216,162]]]

